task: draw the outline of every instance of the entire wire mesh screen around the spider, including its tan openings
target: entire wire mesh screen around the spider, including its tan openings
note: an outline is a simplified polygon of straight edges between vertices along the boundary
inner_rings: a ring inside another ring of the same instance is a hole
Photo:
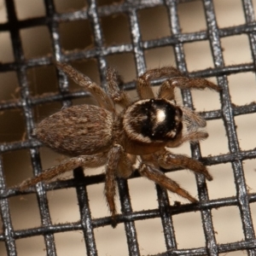
[[[255,1],[0,3],[1,255],[256,255]],[[63,158],[32,138],[35,124],[62,107],[91,103],[54,61],[71,63],[103,88],[106,68],[115,67],[134,97],[134,79],[148,68],[172,65],[217,83],[219,94],[176,92],[207,119],[209,132],[177,152],[200,159],[213,181],[165,171],[201,203],[135,172],[118,181],[113,229],[103,169],[13,189]]]

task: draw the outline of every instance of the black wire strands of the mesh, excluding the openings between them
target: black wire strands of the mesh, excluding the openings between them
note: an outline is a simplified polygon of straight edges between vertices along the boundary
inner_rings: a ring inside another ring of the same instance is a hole
[[[62,102],[63,106],[69,106],[72,99],[87,96],[84,91],[71,92],[68,89],[67,77],[59,77],[59,92],[45,94],[41,96],[31,96],[30,84],[27,80],[26,70],[32,67],[43,67],[52,65],[53,60],[57,61],[80,61],[84,59],[96,60],[96,67],[100,73],[102,84],[105,84],[104,73],[108,66],[107,57],[109,55],[131,53],[134,57],[137,74],[146,70],[144,52],[147,49],[156,49],[172,45],[174,49],[175,61],[177,68],[183,73],[188,73],[183,44],[207,40],[212,51],[213,68],[204,69],[195,73],[189,73],[193,77],[216,77],[219,86],[223,89],[221,92],[221,108],[215,111],[203,112],[202,115],[207,120],[222,119],[229,143],[229,154],[214,155],[203,157],[202,161],[207,166],[214,166],[221,163],[231,163],[233,168],[236,196],[225,197],[218,200],[208,200],[207,185],[202,177],[196,177],[198,187],[198,197],[204,201],[200,205],[174,205],[170,207],[169,198],[166,191],[156,186],[159,207],[154,210],[132,212],[131,200],[129,197],[129,188],[127,181],[119,180],[119,195],[121,202],[121,214],[119,223],[125,223],[125,235],[127,239],[127,251],[129,255],[143,254],[137,241],[137,230],[135,221],[148,218],[160,218],[163,225],[163,236],[166,241],[166,252],[158,255],[218,255],[218,253],[228,253],[234,251],[244,251],[247,255],[256,255],[256,240],[253,230],[253,218],[250,212],[250,203],[256,201],[256,194],[247,191],[243,172],[243,160],[256,158],[256,150],[241,150],[237,138],[235,117],[256,112],[256,104],[252,102],[248,105],[236,106],[230,100],[230,90],[228,87],[227,75],[233,73],[254,72],[256,62],[255,49],[255,27],[253,3],[250,0],[242,0],[241,5],[245,16],[245,24],[241,26],[230,26],[218,28],[214,6],[211,0],[201,1],[207,20],[207,30],[201,32],[183,33],[179,24],[177,5],[179,3],[193,2],[189,0],[166,0],[166,1],[124,1],[114,4],[99,4],[96,1],[87,1],[87,6],[69,13],[57,13],[53,0],[44,0],[46,15],[27,20],[19,20],[16,15],[15,1],[5,0],[8,21],[0,24],[0,33],[9,32],[12,49],[14,51],[14,61],[0,64],[0,73],[15,72],[17,75],[20,98],[16,100],[7,100],[0,103],[0,111],[20,109],[26,127],[26,137],[18,142],[2,143],[0,145],[1,154],[21,149],[29,149],[32,169],[34,175],[42,171],[40,154],[37,141],[32,139],[32,128],[35,125],[33,108],[39,104],[47,102]],[[157,38],[145,41],[142,39],[137,12],[142,9],[165,6],[170,22],[172,35],[165,38]],[[100,19],[109,15],[125,14],[128,16],[131,44],[116,44],[106,46],[102,38],[102,26]],[[61,51],[60,24],[61,22],[71,22],[74,20],[89,20],[90,30],[93,37],[93,47],[84,50],[75,50],[71,52]],[[49,29],[52,55],[44,55],[39,58],[26,58],[24,49],[21,44],[20,30],[28,27],[47,26]],[[235,35],[245,34],[249,38],[250,52],[252,61],[238,65],[225,66],[223,49],[221,48],[220,39]],[[2,82],[1,82],[2,84]],[[125,90],[135,88],[134,83],[124,84]],[[192,96],[189,90],[182,91],[183,104],[193,108]],[[252,138],[255,140],[255,138]],[[199,145],[191,145],[192,156],[201,158]],[[17,172],[22,172],[18,170]],[[134,176],[137,177],[137,174]],[[17,255],[16,241],[20,238],[29,236],[44,236],[45,248],[47,255],[57,255],[55,247],[55,233],[66,232],[71,230],[81,230],[84,235],[84,243],[88,255],[97,255],[94,229],[111,223],[110,218],[94,218],[90,216],[90,205],[86,191],[86,186],[95,183],[102,183],[104,175],[84,177],[83,170],[76,170],[74,178],[65,181],[49,183],[44,186],[38,184],[36,189],[30,189],[26,193],[36,192],[38,207],[41,217],[42,226],[39,228],[30,228],[26,230],[15,230],[12,224],[12,218],[9,210],[9,198],[20,195],[15,189],[9,189],[5,184],[3,159],[0,158],[0,178],[1,178],[1,201],[0,212],[3,222],[3,231],[0,234],[0,241],[3,241],[8,255]],[[64,189],[75,187],[79,201],[80,220],[72,224],[52,224],[49,215],[49,206],[46,196],[46,189]],[[207,201],[207,202],[205,202]],[[241,224],[244,234],[242,241],[218,244],[214,233],[214,224],[212,224],[211,210],[226,206],[236,206],[239,208],[241,215]],[[196,247],[192,249],[177,249],[175,230],[172,223],[172,216],[183,212],[201,212],[204,236],[206,240],[205,247]],[[124,252],[126,254],[127,252]],[[150,254],[150,253],[149,253]]]

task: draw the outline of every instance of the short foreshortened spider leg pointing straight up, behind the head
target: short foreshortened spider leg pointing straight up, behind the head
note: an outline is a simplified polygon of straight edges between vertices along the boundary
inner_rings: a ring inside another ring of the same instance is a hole
[[[117,73],[115,69],[108,67],[107,80],[108,93],[113,102],[118,103],[123,108],[130,106],[132,102],[130,96],[125,91],[119,90],[119,85],[117,83]]]

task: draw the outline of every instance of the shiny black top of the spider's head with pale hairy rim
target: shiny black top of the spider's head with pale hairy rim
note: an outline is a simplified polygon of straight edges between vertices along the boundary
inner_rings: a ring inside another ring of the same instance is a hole
[[[172,140],[183,128],[181,119],[181,109],[171,102],[164,99],[143,100],[128,108],[124,128],[132,133],[133,139],[137,137],[141,140],[143,137],[147,142]]]

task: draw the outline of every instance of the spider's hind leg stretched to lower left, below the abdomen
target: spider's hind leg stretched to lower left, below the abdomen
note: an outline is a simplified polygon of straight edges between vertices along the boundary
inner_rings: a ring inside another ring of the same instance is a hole
[[[53,166],[49,169],[46,169],[36,177],[26,179],[23,183],[20,184],[20,186],[18,186],[18,189],[23,191],[39,182],[49,181],[61,173],[71,171],[79,166],[97,167],[104,165],[105,162],[106,155],[104,154],[80,155],[78,157],[73,157],[58,166]]]

